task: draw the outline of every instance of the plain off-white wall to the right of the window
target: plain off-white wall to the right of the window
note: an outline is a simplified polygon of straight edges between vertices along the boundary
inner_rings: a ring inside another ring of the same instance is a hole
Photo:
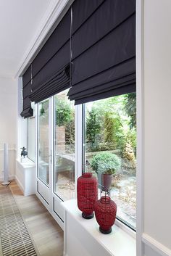
[[[144,0],[143,229],[159,255],[171,255],[170,10],[170,0]],[[152,255],[147,247],[145,253]]]

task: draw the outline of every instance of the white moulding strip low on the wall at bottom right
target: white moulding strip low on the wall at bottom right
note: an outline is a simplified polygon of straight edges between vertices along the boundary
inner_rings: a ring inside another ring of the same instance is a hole
[[[159,253],[161,256],[171,256],[171,250],[165,247],[163,244],[159,243],[159,241],[155,240],[148,234],[143,233],[142,241],[147,246],[151,247],[155,252]]]

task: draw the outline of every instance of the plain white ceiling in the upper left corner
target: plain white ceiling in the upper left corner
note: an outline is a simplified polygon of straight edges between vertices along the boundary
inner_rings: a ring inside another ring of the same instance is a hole
[[[52,0],[0,0],[0,77],[17,74],[51,4]]]

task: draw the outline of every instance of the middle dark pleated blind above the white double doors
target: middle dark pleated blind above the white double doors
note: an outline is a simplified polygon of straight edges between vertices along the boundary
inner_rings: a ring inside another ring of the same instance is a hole
[[[41,102],[70,87],[71,10],[64,15],[32,63],[30,99]]]

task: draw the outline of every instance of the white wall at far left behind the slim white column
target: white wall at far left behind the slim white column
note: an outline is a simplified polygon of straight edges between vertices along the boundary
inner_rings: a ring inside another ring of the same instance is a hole
[[[9,176],[14,178],[17,144],[17,81],[9,78],[0,78],[0,180],[4,142],[9,144]]]

